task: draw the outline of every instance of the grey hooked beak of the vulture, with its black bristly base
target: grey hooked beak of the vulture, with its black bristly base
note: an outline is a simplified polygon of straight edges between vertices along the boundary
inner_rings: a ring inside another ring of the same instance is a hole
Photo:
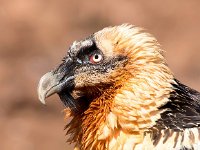
[[[73,86],[73,68],[72,59],[67,58],[57,69],[50,71],[42,76],[38,84],[39,100],[45,104],[45,99],[55,93],[62,91],[70,92]]]

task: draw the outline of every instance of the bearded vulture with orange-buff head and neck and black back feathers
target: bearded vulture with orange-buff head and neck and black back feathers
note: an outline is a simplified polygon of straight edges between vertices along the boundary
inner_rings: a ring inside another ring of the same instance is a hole
[[[176,80],[157,40],[132,25],[74,42],[39,83],[40,100],[58,93],[75,149],[198,148],[200,95]]]

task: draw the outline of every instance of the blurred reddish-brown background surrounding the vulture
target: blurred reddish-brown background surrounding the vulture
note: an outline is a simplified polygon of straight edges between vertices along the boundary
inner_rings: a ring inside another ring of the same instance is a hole
[[[200,91],[199,0],[0,0],[0,149],[64,150],[63,106],[39,103],[39,78],[69,45],[131,23],[155,35],[176,77]]]

